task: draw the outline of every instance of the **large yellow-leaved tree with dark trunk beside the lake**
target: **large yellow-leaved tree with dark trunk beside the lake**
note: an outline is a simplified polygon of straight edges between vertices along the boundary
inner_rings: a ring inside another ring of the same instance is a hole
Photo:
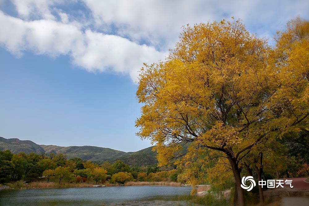
[[[282,77],[280,65],[269,61],[275,56],[271,52],[266,40],[251,35],[240,20],[222,20],[187,25],[164,62],[141,69],[137,97],[144,106],[136,126],[141,138],[156,145],[161,166],[176,157],[184,167],[193,164],[187,174],[195,184],[209,171],[203,168],[209,158],[217,157],[210,169],[223,179],[230,169],[236,203],[245,205],[240,162],[280,132],[297,132],[292,126],[307,117],[301,108],[303,116],[295,121],[277,112],[284,110]],[[188,152],[181,153],[188,143]]]

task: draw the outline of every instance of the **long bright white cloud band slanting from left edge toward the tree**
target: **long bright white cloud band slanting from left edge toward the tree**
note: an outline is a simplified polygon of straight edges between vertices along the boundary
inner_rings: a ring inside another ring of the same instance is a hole
[[[111,70],[129,74],[136,80],[143,62],[155,62],[166,55],[152,46],[139,45],[120,36],[85,32],[72,24],[53,20],[24,21],[3,14],[0,24],[0,43],[11,53],[21,55],[23,50],[49,56],[70,55],[73,62],[88,71]]]

